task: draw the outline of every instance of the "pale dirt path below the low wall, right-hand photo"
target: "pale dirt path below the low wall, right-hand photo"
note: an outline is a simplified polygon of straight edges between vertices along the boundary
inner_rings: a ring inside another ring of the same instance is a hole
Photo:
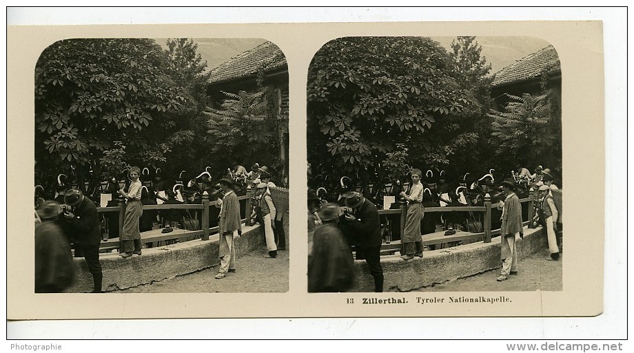
[[[534,291],[563,290],[562,261],[547,261],[548,250],[542,250],[531,257],[518,261],[518,275],[509,276],[506,281],[495,279],[500,269],[482,272],[479,275],[456,279],[455,281],[420,288],[416,292],[495,292],[495,291]]]

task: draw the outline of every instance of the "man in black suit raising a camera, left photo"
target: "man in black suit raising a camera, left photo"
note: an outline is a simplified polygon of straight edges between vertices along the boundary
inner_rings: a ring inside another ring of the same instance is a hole
[[[65,208],[62,214],[65,225],[71,233],[71,238],[76,239],[79,249],[92,273],[94,287],[91,293],[103,293],[101,281],[103,273],[99,264],[99,244],[101,232],[99,231],[99,217],[94,202],[85,197],[79,190],[66,191],[64,195],[66,206],[72,207],[72,211]]]

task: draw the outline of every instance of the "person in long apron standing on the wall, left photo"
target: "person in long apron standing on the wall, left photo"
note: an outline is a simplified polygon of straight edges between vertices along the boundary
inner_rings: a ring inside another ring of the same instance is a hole
[[[119,195],[125,198],[125,216],[123,217],[123,232],[121,239],[121,257],[130,257],[132,254],[141,255],[141,233],[139,232],[139,219],[143,215],[141,204],[141,181],[139,180],[141,169],[130,168],[130,189],[127,193],[119,190]]]

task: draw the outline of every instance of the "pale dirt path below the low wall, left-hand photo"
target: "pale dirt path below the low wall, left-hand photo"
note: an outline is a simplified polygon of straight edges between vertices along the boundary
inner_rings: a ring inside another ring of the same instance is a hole
[[[236,259],[236,272],[215,279],[218,266],[189,275],[164,279],[116,293],[268,293],[287,292],[289,288],[289,252],[278,251],[275,259],[265,259],[266,248]]]

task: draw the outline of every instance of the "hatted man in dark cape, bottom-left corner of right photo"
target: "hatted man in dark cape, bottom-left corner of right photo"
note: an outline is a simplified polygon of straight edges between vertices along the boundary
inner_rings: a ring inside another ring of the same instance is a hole
[[[308,292],[346,292],[354,279],[354,259],[339,228],[339,205],[320,209],[323,222],[315,228],[308,256]]]

